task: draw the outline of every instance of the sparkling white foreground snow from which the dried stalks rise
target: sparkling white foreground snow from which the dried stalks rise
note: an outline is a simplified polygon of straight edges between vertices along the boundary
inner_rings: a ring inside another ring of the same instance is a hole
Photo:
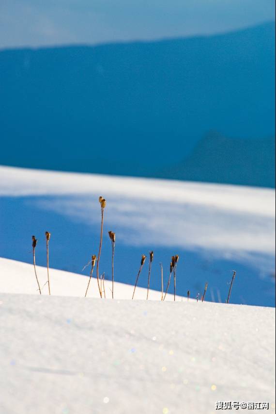
[[[0,293],[1,414],[211,414],[216,401],[275,412],[272,308],[15,294],[34,292],[32,270],[0,260],[0,291],[13,292]],[[87,278],[50,272],[56,294],[83,295]]]

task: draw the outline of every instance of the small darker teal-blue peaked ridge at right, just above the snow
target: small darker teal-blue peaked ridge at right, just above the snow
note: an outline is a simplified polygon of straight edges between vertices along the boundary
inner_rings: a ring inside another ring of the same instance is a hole
[[[229,139],[213,132],[181,163],[156,172],[160,178],[275,187],[275,137]]]

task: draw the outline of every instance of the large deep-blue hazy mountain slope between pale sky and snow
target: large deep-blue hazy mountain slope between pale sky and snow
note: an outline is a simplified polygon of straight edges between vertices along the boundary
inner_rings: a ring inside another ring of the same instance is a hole
[[[3,50],[0,164],[154,176],[210,129],[272,136],[274,30]]]

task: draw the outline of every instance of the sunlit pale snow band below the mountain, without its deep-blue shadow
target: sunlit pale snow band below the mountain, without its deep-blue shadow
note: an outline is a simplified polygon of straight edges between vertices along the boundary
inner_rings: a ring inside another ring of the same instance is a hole
[[[0,167],[0,196],[56,196],[37,206],[86,225],[98,220],[99,195],[107,199],[105,222],[116,223],[128,245],[198,248],[252,263],[256,253],[274,258],[273,189]]]

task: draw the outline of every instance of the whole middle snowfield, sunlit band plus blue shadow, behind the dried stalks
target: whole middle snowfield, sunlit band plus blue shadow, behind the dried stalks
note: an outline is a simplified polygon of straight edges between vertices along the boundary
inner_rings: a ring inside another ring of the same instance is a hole
[[[273,189],[0,166],[0,256],[31,263],[35,234],[37,264],[45,266],[48,230],[50,265],[80,273],[98,252],[99,195],[107,199],[100,265],[107,280],[112,230],[118,282],[133,284],[141,254],[154,250],[151,287],[159,290],[159,263],[166,281],[178,253],[180,295],[190,290],[195,298],[209,282],[206,299],[224,302],[235,269],[233,303],[275,306]],[[146,273],[140,286],[147,285]]]

